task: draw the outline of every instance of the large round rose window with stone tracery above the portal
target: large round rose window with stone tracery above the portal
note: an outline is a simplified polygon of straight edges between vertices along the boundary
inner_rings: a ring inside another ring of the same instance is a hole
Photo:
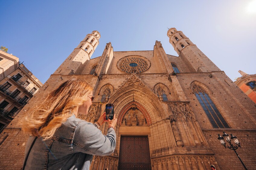
[[[149,67],[150,61],[138,55],[126,56],[117,62],[117,68],[124,73],[142,73],[148,70]]]

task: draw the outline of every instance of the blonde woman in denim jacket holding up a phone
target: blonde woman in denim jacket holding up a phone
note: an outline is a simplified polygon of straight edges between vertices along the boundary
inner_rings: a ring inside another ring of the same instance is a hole
[[[117,119],[106,120],[106,113],[94,124],[76,118],[86,115],[94,96],[92,87],[82,79],[62,83],[50,92],[21,121],[22,130],[32,136],[27,141],[24,169],[89,169],[93,155],[114,152]],[[108,122],[107,135],[98,129]]]

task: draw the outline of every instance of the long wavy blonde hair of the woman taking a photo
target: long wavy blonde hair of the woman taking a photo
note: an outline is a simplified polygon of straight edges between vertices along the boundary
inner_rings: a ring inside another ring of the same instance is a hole
[[[43,140],[53,134],[73,113],[88,100],[93,91],[91,85],[82,79],[71,79],[51,91],[39,106],[29,110],[21,120],[21,128]]]

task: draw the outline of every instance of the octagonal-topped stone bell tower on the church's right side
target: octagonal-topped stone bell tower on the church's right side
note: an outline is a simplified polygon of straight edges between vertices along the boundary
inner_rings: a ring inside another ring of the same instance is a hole
[[[182,58],[190,72],[212,72],[220,69],[182,31],[170,28],[167,32],[169,42]]]

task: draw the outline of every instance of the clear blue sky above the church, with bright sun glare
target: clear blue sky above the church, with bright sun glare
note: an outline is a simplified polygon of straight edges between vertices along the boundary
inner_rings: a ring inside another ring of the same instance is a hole
[[[0,46],[46,82],[80,41],[98,30],[114,51],[153,50],[175,27],[234,80],[238,70],[255,74],[256,1],[0,1]],[[49,60],[51,60],[49,62]]]

